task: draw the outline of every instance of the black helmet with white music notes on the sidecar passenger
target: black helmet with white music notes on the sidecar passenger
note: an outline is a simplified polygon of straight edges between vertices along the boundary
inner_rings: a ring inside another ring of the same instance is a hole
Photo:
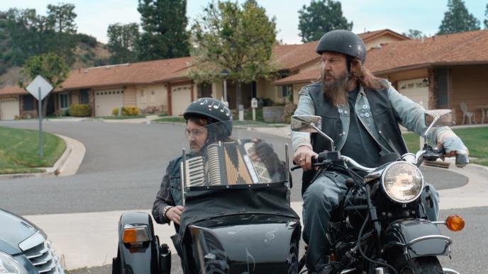
[[[232,134],[232,113],[227,105],[221,101],[214,98],[199,98],[190,103],[187,109],[184,110],[183,118],[185,120],[188,120],[191,116],[206,118],[209,124],[221,122],[218,125],[226,127],[226,137]]]

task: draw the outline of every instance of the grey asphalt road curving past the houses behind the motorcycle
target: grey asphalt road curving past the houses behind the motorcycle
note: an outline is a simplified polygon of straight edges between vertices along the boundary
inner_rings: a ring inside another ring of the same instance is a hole
[[[35,121],[0,122],[0,125],[37,129]],[[66,135],[87,147],[76,176],[0,179],[0,207],[18,215],[149,209],[168,161],[187,147],[183,125],[127,124],[109,122],[44,122],[48,132]],[[246,133],[248,135],[249,133]],[[284,156],[289,139],[257,134],[271,142]],[[248,136],[249,137],[249,136]],[[426,181],[438,189],[463,185],[467,178],[443,169],[423,169]],[[293,173],[292,200],[300,201],[301,171]],[[443,264],[461,273],[486,273],[488,261],[487,208],[454,210],[465,217],[464,231],[451,235],[453,261]],[[442,211],[441,215],[451,212]],[[174,256],[173,266],[179,266]],[[80,272],[81,271],[81,272]],[[109,273],[109,267],[89,268],[72,273]]]

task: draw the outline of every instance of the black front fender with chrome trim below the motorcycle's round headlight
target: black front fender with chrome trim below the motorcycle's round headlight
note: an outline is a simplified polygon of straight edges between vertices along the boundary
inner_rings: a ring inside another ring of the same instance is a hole
[[[387,227],[384,251],[390,256],[403,253],[408,261],[421,256],[449,255],[448,236],[440,234],[436,224],[424,219],[401,219]]]

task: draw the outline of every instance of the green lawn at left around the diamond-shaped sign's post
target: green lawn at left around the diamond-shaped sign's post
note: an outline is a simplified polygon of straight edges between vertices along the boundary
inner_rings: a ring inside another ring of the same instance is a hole
[[[43,133],[43,159],[39,158],[37,130],[0,127],[0,174],[43,172],[36,167],[54,166],[66,149],[60,137]]]

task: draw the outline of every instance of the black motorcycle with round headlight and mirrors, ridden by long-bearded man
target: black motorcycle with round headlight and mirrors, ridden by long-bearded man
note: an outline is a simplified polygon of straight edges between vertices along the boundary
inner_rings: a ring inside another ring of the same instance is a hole
[[[416,154],[390,154],[382,166],[371,169],[357,164],[340,152],[322,152],[314,159],[318,169],[336,171],[350,176],[348,188],[338,210],[331,214],[328,241],[331,244],[332,273],[452,273],[442,268],[437,256],[450,256],[453,241],[440,233],[438,225],[451,231],[462,230],[464,220],[451,215],[444,222],[431,222],[421,195],[431,203],[418,166],[423,160],[435,161],[443,157],[443,149],[428,144],[426,136],[434,127],[451,125],[450,110],[427,110],[425,143]],[[321,131],[320,116],[292,116],[292,130],[316,132],[331,142]],[[467,164],[467,156],[458,154],[457,164]],[[292,170],[301,166],[294,166]],[[366,173],[360,176],[358,173]],[[315,179],[316,177],[314,177]],[[313,182],[314,180],[312,180]],[[299,263],[304,268],[306,253]]]

